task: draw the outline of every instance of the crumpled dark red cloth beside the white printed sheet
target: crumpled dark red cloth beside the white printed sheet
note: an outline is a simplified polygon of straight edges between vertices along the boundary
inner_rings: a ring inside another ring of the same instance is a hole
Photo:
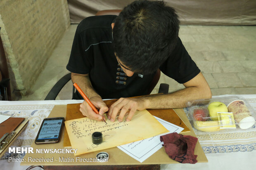
[[[161,142],[166,154],[180,163],[197,163],[197,155],[194,155],[194,148],[197,144],[197,138],[190,135],[180,135],[178,133],[169,133],[160,136]]]

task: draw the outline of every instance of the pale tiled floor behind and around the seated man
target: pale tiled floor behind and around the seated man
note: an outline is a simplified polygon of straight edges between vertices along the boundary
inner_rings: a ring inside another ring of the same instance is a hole
[[[44,100],[68,71],[66,64],[77,25],[71,25],[47,61],[33,88],[21,100]],[[213,95],[256,94],[256,26],[180,26],[180,39],[206,78]],[[169,92],[184,88],[161,73]],[[71,81],[56,99],[71,99]]]

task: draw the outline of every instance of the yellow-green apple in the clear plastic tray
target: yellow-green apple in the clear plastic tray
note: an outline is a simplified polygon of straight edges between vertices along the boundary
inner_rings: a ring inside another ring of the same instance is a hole
[[[212,120],[218,120],[217,112],[228,112],[228,107],[223,102],[212,102],[208,106],[209,115]]]

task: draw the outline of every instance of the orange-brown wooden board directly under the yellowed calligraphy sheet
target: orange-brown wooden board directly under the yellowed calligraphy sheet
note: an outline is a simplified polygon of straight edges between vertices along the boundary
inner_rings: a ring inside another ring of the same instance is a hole
[[[114,100],[105,100],[107,107],[110,107],[116,99]],[[73,119],[79,119],[84,117],[83,114],[79,111],[80,103],[77,104],[68,104],[66,109],[66,121],[73,120]],[[149,113],[151,113],[153,116],[159,117],[160,119],[164,119],[165,121],[168,121],[170,123],[173,123],[177,126],[180,126],[184,128],[183,132],[190,131],[190,129],[185,125],[185,123],[180,119],[180,117],[176,114],[176,112],[173,109],[147,109]],[[64,142],[63,146],[65,148],[71,147],[71,143],[69,140],[69,135],[66,131],[66,128],[64,130]]]

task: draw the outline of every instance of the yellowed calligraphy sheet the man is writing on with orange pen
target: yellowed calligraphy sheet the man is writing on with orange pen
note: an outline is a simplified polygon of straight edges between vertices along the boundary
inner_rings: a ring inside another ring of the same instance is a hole
[[[75,156],[168,132],[147,110],[137,111],[131,121],[111,122],[107,119],[106,122],[107,124],[86,117],[65,121],[71,147],[78,149]],[[92,133],[94,132],[102,133],[103,142],[101,144],[92,143]]]

